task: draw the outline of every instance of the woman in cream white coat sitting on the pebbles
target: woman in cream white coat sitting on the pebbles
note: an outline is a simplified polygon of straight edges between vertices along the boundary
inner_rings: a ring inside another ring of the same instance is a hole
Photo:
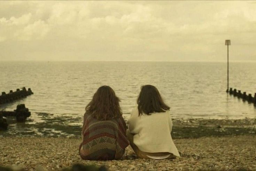
[[[127,121],[130,145],[139,158],[170,159],[180,156],[171,137],[172,120],[157,88],[144,85]]]

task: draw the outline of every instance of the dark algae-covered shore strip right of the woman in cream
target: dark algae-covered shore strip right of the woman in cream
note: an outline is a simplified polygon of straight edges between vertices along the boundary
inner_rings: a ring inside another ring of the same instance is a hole
[[[255,134],[256,119],[173,120],[173,138],[220,137]]]

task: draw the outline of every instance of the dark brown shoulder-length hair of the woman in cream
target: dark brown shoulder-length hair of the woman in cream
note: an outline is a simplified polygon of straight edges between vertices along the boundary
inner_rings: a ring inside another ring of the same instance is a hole
[[[170,107],[167,106],[157,88],[153,85],[144,85],[141,87],[141,91],[137,100],[139,116],[142,113],[151,115],[153,112],[165,112]]]

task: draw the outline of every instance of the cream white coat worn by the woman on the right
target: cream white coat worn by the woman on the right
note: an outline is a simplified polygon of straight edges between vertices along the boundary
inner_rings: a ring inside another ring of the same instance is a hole
[[[127,121],[130,133],[135,134],[133,143],[147,153],[169,152],[180,156],[171,137],[172,119],[170,111],[139,115],[134,107]]]

